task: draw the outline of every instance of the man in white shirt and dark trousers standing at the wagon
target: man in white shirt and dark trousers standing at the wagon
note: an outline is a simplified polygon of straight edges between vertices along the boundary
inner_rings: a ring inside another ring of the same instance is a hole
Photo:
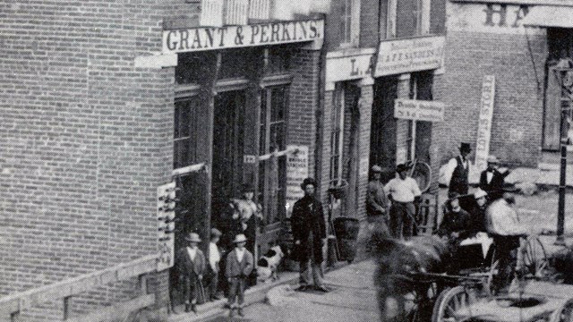
[[[493,238],[499,258],[499,273],[492,281],[492,291],[500,293],[511,284],[517,265],[517,248],[526,227],[519,222],[515,204],[515,189],[504,189],[503,195],[492,201],[485,210],[486,229]]]

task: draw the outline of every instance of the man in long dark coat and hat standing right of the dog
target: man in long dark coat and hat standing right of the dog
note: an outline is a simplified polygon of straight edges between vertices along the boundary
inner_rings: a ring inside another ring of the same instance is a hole
[[[315,289],[329,292],[322,279],[322,246],[326,240],[326,225],[324,211],[319,199],[314,197],[316,182],[312,178],[304,179],[301,184],[304,197],[298,199],[293,206],[291,225],[295,239],[295,256],[300,263],[300,286],[298,291],[311,287],[311,271]]]

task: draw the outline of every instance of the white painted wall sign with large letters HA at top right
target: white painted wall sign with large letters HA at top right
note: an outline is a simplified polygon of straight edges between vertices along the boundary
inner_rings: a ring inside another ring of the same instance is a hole
[[[521,4],[484,4],[448,2],[448,31],[497,34],[543,34],[540,28],[527,29],[522,21],[530,6]]]

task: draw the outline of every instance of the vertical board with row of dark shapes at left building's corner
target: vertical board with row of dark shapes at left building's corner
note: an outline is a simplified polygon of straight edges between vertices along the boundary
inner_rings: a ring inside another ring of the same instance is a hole
[[[158,271],[175,264],[175,182],[158,187]]]

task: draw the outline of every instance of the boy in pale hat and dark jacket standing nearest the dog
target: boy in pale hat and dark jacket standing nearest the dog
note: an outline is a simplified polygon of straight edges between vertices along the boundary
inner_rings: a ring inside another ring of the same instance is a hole
[[[244,317],[244,286],[247,278],[252,273],[254,259],[252,258],[252,253],[244,247],[247,243],[247,238],[243,233],[237,234],[233,243],[235,243],[235,249],[227,254],[227,266],[225,269],[225,275],[229,282],[228,304],[231,309],[229,316],[233,317],[235,309],[238,309],[239,316]]]

